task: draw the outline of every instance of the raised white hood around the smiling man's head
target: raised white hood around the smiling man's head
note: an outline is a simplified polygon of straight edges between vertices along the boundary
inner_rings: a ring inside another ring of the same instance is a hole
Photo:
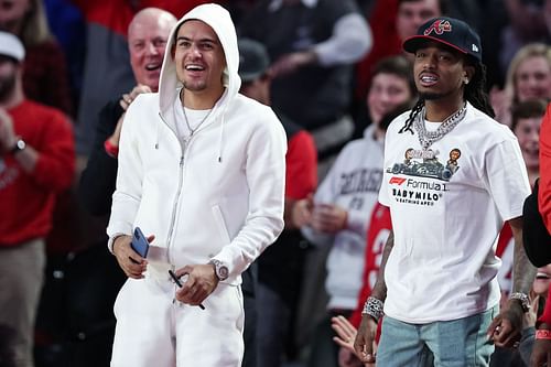
[[[161,77],[159,80],[159,95],[161,111],[166,110],[174,101],[174,90],[182,87],[182,83],[177,79],[176,64],[172,58],[172,46],[175,44],[176,30],[180,29],[185,21],[199,20],[208,24],[220,41],[226,57],[226,69],[224,71],[224,86],[228,100],[237,95],[241,86],[241,79],[237,74],[239,66],[239,52],[237,48],[237,33],[231,21],[229,12],[223,7],[214,3],[202,4],[187,12],[176,25],[172,29],[166,43],[166,52],[164,53],[163,66],[161,68]]]

